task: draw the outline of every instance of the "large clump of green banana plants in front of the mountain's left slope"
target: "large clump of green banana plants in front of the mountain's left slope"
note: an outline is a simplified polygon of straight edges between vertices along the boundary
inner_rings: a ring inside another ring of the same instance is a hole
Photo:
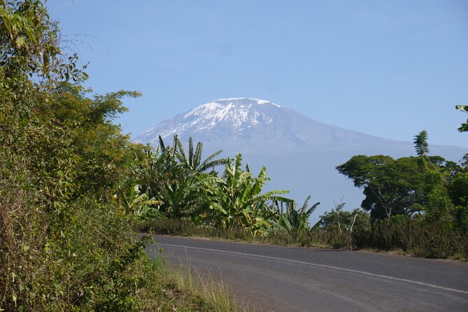
[[[171,146],[159,138],[157,150],[147,149],[139,189],[162,201],[159,209],[167,218],[225,229],[241,227],[253,235],[277,225],[279,212],[271,204],[292,204],[292,200],[280,196],[288,193],[284,190],[262,194],[269,180],[265,168],[254,177],[248,165],[243,169],[241,154],[234,159],[217,159],[221,151],[202,162],[202,143],[195,149],[193,146],[190,138],[186,153],[174,136]],[[218,174],[215,169],[222,165],[225,169]]]

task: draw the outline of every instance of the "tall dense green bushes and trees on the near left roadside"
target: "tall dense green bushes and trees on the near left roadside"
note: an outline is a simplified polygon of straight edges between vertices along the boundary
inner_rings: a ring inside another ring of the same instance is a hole
[[[0,1],[0,64],[0,311],[176,309],[133,231],[159,215],[147,155],[112,122],[139,92],[85,90],[38,0]]]

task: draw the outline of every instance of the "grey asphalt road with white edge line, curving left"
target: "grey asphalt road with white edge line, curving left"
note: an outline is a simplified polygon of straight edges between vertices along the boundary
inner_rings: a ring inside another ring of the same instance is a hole
[[[155,236],[167,260],[222,278],[249,311],[468,311],[468,264]],[[157,255],[155,246],[147,252]]]

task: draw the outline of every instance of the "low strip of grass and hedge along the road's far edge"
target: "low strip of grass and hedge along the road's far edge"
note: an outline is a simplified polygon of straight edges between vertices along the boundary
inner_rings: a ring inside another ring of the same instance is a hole
[[[381,222],[353,233],[336,229],[272,229],[263,236],[250,236],[241,228],[200,227],[190,221],[154,220],[139,225],[141,232],[179,236],[197,236],[266,243],[278,246],[302,246],[347,250],[397,252],[413,257],[468,261],[468,233],[418,222],[388,224]]]

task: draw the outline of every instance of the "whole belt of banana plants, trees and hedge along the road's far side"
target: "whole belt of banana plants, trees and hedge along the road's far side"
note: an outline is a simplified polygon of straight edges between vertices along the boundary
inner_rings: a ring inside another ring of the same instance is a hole
[[[459,164],[428,156],[425,131],[414,137],[414,157],[357,155],[337,166],[363,190],[362,208],[346,211],[344,203],[338,204],[313,226],[309,217],[320,203],[309,207],[308,197],[297,206],[283,197],[284,190],[262,194],[266,169],[254,177],[248,165],[243,169],[240,154],[218,159],[225,164],[218,177],[214,167],[206,172],[208,167],[195,171],[188,166],[177,136],[170,148],[159,141],[146,173],[159,182],[141,187],[155,198],[164,199],[165,192],[173,197],[156,206],[159,217],[138,225],[141,232],[468,259],[468,155]],[[193,158],[192,146],[190,140],[188,159],[199,162],[201,154]],[[164,172],[177,171],[178,178],[162,178]]]

